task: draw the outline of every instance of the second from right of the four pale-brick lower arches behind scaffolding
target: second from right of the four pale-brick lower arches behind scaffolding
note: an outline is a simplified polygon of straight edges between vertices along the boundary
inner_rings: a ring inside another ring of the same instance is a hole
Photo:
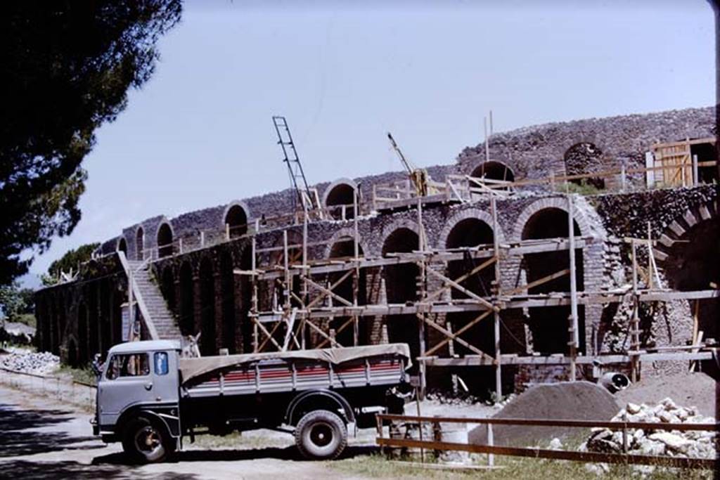
[[[492,245],[493,235],[492,228],[487,223],[477,218],[467,218],[457,222],[448,235],[446,247],[477,247],[477,245]],[[475,260],[466,255],[462,260],[451,261],[448,263],[448,276],[450,279],[457,279],[465,273],[472,271],[485,261],[485,259]],[[470,276],[460,282],[472,293],[480,296],[490,296],[492,294],[492,281],[495,279],[495,270],[492,266],[482,269],[477,274]],[[469,296],[457,289],[451,289],[451,297],[453,299],[467,299]],[[453,332],[457,332],[464,325],[472,322],[482,312],[457,312],[448,314],[448,320],[452,326]],[[469,330],[466,330],[461,338],[466,340],[470,345],[479,348],[490,356],[495,355],[495,340],[493,332],[492,317],[474,324]],[[467,349],[459,343],[454,343],[454,353],[459,355],[474,354],[472,350]],[[474,383],[474,382],[473,382]],[[488,385],[490,386],[490,385]],[[482,390],[484,391],[484,389]]]

